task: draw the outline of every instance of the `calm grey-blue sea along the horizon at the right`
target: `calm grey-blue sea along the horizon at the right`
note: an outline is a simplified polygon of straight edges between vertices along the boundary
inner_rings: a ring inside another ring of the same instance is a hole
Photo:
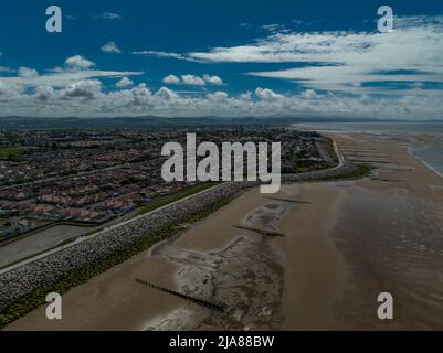
[[[443,121],[442,122],[318,122],[295,124],[303,129],[330,130],[340,132],[368,132],[386,136],[414,136],[426,133],[434,137],[431,142],[411,139],[410,152],[420,158],[436,173],[443,176]]]

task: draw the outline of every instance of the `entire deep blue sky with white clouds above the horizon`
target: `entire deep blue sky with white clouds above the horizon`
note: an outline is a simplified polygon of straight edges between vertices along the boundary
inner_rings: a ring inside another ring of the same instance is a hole
[[[3,3],[0,114],[443,118],[441,1],[159,2]]]

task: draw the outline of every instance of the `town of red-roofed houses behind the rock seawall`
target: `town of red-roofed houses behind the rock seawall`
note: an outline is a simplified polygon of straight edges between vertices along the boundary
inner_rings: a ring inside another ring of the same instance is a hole
[[[189,185],[165,183],[167,141],[189,128],[102,131],[2,131],[0,240],[51,222],[103,224]],[[321,137],[284,127],[228,126],[193,129],[200,141],[281,141],[282,171],[325,162]],[[0,147],[1,151],[1,147]],[[298,163],[298,164],[297,164]]]

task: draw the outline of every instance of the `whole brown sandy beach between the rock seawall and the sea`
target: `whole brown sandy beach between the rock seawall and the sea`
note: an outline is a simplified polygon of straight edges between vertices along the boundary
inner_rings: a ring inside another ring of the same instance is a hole
[[[443,329],[443,179],[408,152],[408,139],[333,137],[347,158],[377,165],[373,173],[358,181],[285,184],[273,197],[250,190],[71,289],[62,320],[45,319],[42,307],[6,329]],[[377,296],[386,291],[393,296],[394,320],[381,321]]]

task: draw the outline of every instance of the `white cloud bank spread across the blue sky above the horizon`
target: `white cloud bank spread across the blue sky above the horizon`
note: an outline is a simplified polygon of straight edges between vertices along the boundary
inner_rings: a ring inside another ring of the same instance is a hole
[[[0,66],[0,114],[443,119],[443,17],[397,18],[391,33],[295,33],[274,24],[266,31],[267,36],[251,43],[207,52],[133,53],[202,62],[207,67],[251,63],[246,72],[239,72],[242,77],[284,79],[294,84],[294,90],[257,84],[233,94],[220,76],[192,73],[164,73],[160,86],[152,88],[151,81],[150,85],[136,81],[143,72],[99,69],[74,55],[60,67],[40,72]],[[105,45],[112,53],[118,50],[115,43]],[[274,64],[254,71],[254,63]],[[285,63],[284,69],[278,69],[279,63]],[[193,86],[198,95],[172,89],[183,85]]]

